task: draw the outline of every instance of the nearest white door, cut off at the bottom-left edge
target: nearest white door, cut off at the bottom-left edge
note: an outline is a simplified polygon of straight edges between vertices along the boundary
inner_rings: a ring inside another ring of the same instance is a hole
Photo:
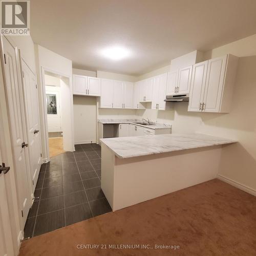
[[[0,165],[2,165],[1,151]],[[2,172],[0,173],[0,256],[14,255],[11,236],[11,223],[7,203],[5,174]]]

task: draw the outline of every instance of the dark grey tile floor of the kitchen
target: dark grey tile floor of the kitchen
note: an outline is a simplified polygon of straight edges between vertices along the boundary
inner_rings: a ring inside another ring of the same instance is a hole
[[[100,146],[81,144],[75,149],[42,164],[35,189],[39,198],[29,211],[24,238],[111,211],[100,189]]]

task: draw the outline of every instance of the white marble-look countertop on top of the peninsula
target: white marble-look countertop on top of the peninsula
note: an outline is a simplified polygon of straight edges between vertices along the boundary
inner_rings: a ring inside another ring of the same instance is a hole
[[[237,142],[199,133],[120,137],[100,140],[119,158],[139,157]]]

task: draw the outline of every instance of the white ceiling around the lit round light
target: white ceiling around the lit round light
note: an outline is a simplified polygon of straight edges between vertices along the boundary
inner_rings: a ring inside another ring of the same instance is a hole
[[[31,35],[73,68],[141,75],[255,34],[255,13],[255,0],[32,0]],[[113,45],[132,56],[100,56]]]

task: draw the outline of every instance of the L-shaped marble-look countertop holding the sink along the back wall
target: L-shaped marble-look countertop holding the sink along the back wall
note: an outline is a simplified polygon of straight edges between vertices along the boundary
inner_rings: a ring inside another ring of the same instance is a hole
[[[171,124],[167,123],[155,123],[153,125],[141,125],[138,124],[138,122],[143,122],[140,119],[98,119],[98,122],[103,124],[119,124],[119,123],[130,123],[130,124],[136,124],[141,127],[146,127],[148,129],[166,129],[166,128],[172,128]]]

